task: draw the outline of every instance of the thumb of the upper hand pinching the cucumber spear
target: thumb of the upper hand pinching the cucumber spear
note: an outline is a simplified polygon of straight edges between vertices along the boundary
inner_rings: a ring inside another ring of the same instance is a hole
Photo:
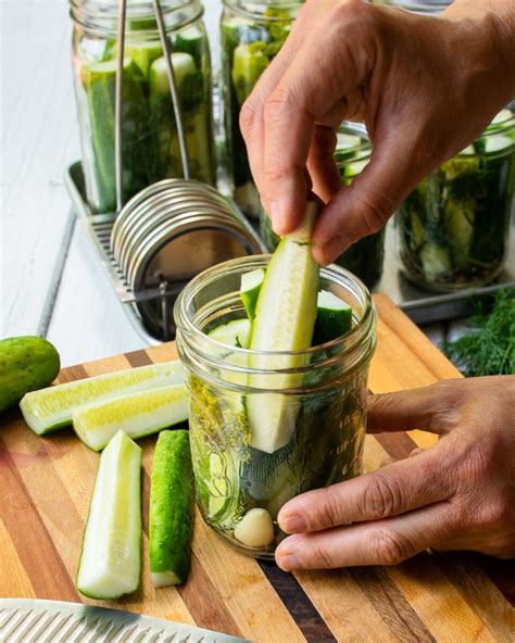
[[[318,263],[331,263],[349,245],[386,225],[424,176],[415,171],[414,155],[413,142],[402,144],[398,136],[377,141],[365,169],[332,197],[318,217],[313,235]]]

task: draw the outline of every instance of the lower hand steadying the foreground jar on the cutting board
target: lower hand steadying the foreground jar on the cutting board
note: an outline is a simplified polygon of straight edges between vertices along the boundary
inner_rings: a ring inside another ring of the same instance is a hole
[[[288,502],[278,521],[294,535],[277,547],[277,565],[395,565],[427,547],[515,557],[514,409],[515,376],[373,395],[369,432],[423,428],[439,441]]]

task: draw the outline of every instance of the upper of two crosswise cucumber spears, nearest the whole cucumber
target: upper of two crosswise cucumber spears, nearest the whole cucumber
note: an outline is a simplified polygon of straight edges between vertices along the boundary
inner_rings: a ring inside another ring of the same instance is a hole
[[[184,381],[183,365],[175,360],[33,391],[23,398],[20,408],[33,431],[42,436],[70,425],[79,406]]]

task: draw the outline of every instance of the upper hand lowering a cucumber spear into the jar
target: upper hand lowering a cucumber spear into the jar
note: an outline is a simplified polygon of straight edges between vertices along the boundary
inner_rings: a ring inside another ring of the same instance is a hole
[[[427,17],[363,0],[309,0],[241,110],[254,179],[276,232],[313,190],[327,206],[314,257],[375,232],[420,178],[478,137],[515,93],[513,0],[455,0]],[[343,119],[364,121],[370,163],[341,188]]]

